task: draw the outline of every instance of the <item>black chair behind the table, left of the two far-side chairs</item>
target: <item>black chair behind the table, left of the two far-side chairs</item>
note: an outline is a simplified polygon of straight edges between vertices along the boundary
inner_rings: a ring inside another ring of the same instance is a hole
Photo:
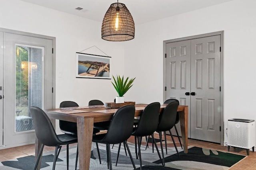
[[[60,108],[63,108],[63,107],[79,107],[79,106],[76,102],[73,102],[73,101],[63,101],[60,103]],[[62,131],[65,134],[77,136],[77,125],[75,122],[60,120],[59,124],[60,124],[60,131]],[[93,135],[95,135],[96,133],[99,133],[99,132],[100,132],[100,130],[93,128]],[[98,154],[100,154],[100,150],[99,150],[97,143],[96,143],[96,146],[97,146]],[[77,146],[76,152],[77,152],[76,156],[78,156],[78,146]],[[76,159],[76,160],[78,160],[78,159]],[[100,156],[99,156],[99,160],[100,160]],[[101,163],[101,160],[100,160],[100,163]],[[77,162],[76,162],[76,167],[77,167]],[[75,170],[76,170],[76,168],[75,168]]]

